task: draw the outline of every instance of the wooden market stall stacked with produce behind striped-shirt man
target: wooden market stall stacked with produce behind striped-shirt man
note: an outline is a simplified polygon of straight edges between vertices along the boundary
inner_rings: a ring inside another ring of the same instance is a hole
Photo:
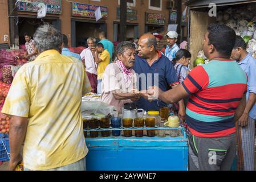
[[[209,16],[209,3],[217,6],[217,16]],[[223,23],[234,29],[248,43],[247,51],[256,57],[256,1],[194,1],[185,2],[189,6],[189,51],[192,65],[208,63],[202,52],[206,29],[210,23]]]

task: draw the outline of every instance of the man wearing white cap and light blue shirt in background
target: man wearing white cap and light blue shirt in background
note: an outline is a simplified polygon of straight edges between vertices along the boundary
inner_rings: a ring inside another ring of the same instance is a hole
[[[165,35],[167,47],[165,49],[165,56],[169,58],[170,61],[174,59],[176,53],[180,48],[178,48],[176,42],[178,40],[178,34],[176,31],[169,31],[168,34]]]

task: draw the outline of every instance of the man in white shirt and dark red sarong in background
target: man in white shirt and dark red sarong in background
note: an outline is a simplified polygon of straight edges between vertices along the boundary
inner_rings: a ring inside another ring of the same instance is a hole
[[[95,63],[95,41],[93,38],[87,39],[88,48],[84,49],[80,54],[84,65],[86,65],[86,73],[92,87],[91,92],[97,93],[97,64]]]

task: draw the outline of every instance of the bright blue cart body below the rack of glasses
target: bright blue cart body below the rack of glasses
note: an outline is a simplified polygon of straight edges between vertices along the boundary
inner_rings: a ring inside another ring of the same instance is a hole
[[[167,135],[164,138],[123,136],[90,138],[89,135],[86,143],[89,149],[86,156],[88,171],[188,170],[188,139],[185,132],[184,136]]]

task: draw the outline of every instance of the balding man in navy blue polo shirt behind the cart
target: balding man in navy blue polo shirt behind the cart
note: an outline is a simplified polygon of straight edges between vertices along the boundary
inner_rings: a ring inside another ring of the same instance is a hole
[[[157,51],[157,41],[154,35],[144,34],[139,40],[139,54],[136,56],[133,69],[138,74],[137,83],[140,90],[147,90],[150,86],[159,85],[159,88],[168,90],[178,85],[176,71],[170,60]],[[161,100],[149,102],[140,98],[136,102],[137,108],[144,110],[157,110],[168,104]],[[183,100],[179,102],[179,116],[185,117],[185,106]]]

